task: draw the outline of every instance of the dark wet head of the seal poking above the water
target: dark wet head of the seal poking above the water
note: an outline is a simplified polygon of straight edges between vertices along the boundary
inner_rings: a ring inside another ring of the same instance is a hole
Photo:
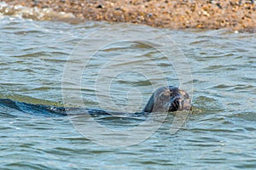
[[[189,94],[177,87],[168,86],[155,90],[143,112],[189,111],[190,109]]]

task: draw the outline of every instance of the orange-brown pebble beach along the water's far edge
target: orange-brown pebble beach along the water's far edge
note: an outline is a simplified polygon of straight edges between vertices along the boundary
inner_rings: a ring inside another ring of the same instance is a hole
[[[228,28],[256,32],[256,3],[246,0],[3,0],[11,5],[52,8],[79,20],[130,22],[171,29]]]

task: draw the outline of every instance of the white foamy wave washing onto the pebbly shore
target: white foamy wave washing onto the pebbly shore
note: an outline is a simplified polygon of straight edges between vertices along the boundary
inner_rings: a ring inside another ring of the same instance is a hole
[[[22,5],[9,5],[0,3],[0,14],[14,15],[32,20],[72,20],[75,16],[71,13],[55,12],[51,8],[27,8]]]

